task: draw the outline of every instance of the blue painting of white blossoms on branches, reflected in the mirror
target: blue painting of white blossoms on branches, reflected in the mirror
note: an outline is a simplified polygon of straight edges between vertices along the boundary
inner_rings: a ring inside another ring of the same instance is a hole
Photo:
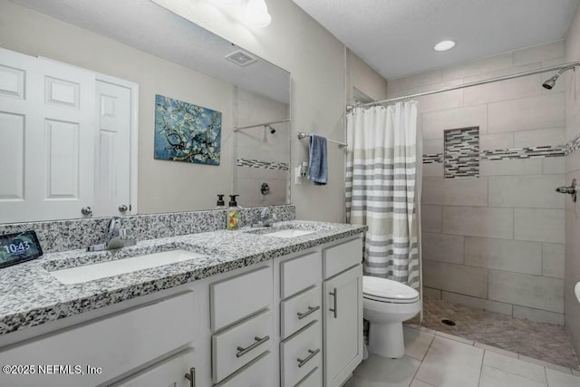
[[[155,159],[219,165],[221,112],[155,96]]]

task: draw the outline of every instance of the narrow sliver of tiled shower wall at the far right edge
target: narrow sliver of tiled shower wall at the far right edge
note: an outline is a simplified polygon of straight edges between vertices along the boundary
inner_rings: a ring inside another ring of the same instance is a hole
[[[565,38],[566,62],[580,61],[580,7]],[[565,138],[574,140],[580,135],[580,77],[565,74]],[[580,181],[580,150],[566,157],[565,182],[573,178]],[[580,304],[574,295],[574,286],[580,281],[580,202],[565,199],[565,284],[564,311],[567,331],[572,335],[576,353],[580,353]]]

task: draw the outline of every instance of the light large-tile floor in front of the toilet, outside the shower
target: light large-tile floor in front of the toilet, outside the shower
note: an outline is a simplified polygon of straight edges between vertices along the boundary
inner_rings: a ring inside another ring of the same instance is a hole
[[[580,387],[580,372],[569,368],[417,325],[403,329],[405,356],[370,355],[344,387]]]

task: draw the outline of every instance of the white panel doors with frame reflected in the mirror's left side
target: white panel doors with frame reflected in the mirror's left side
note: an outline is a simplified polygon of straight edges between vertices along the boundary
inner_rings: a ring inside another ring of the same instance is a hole
[[[0,49],[0,223],[131,204],[131,90],[95,77]]]

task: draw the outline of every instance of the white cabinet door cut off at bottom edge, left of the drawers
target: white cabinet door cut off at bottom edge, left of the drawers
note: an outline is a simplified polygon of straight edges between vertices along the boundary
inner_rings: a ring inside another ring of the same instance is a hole
[[[186,378],[186,374],[189,375],[189,379]],[[193,379],[193,382],[190,379]],[[188,349],[111,387],[189,387],[192,385],[195,385],[194,355],[193,349]]]

